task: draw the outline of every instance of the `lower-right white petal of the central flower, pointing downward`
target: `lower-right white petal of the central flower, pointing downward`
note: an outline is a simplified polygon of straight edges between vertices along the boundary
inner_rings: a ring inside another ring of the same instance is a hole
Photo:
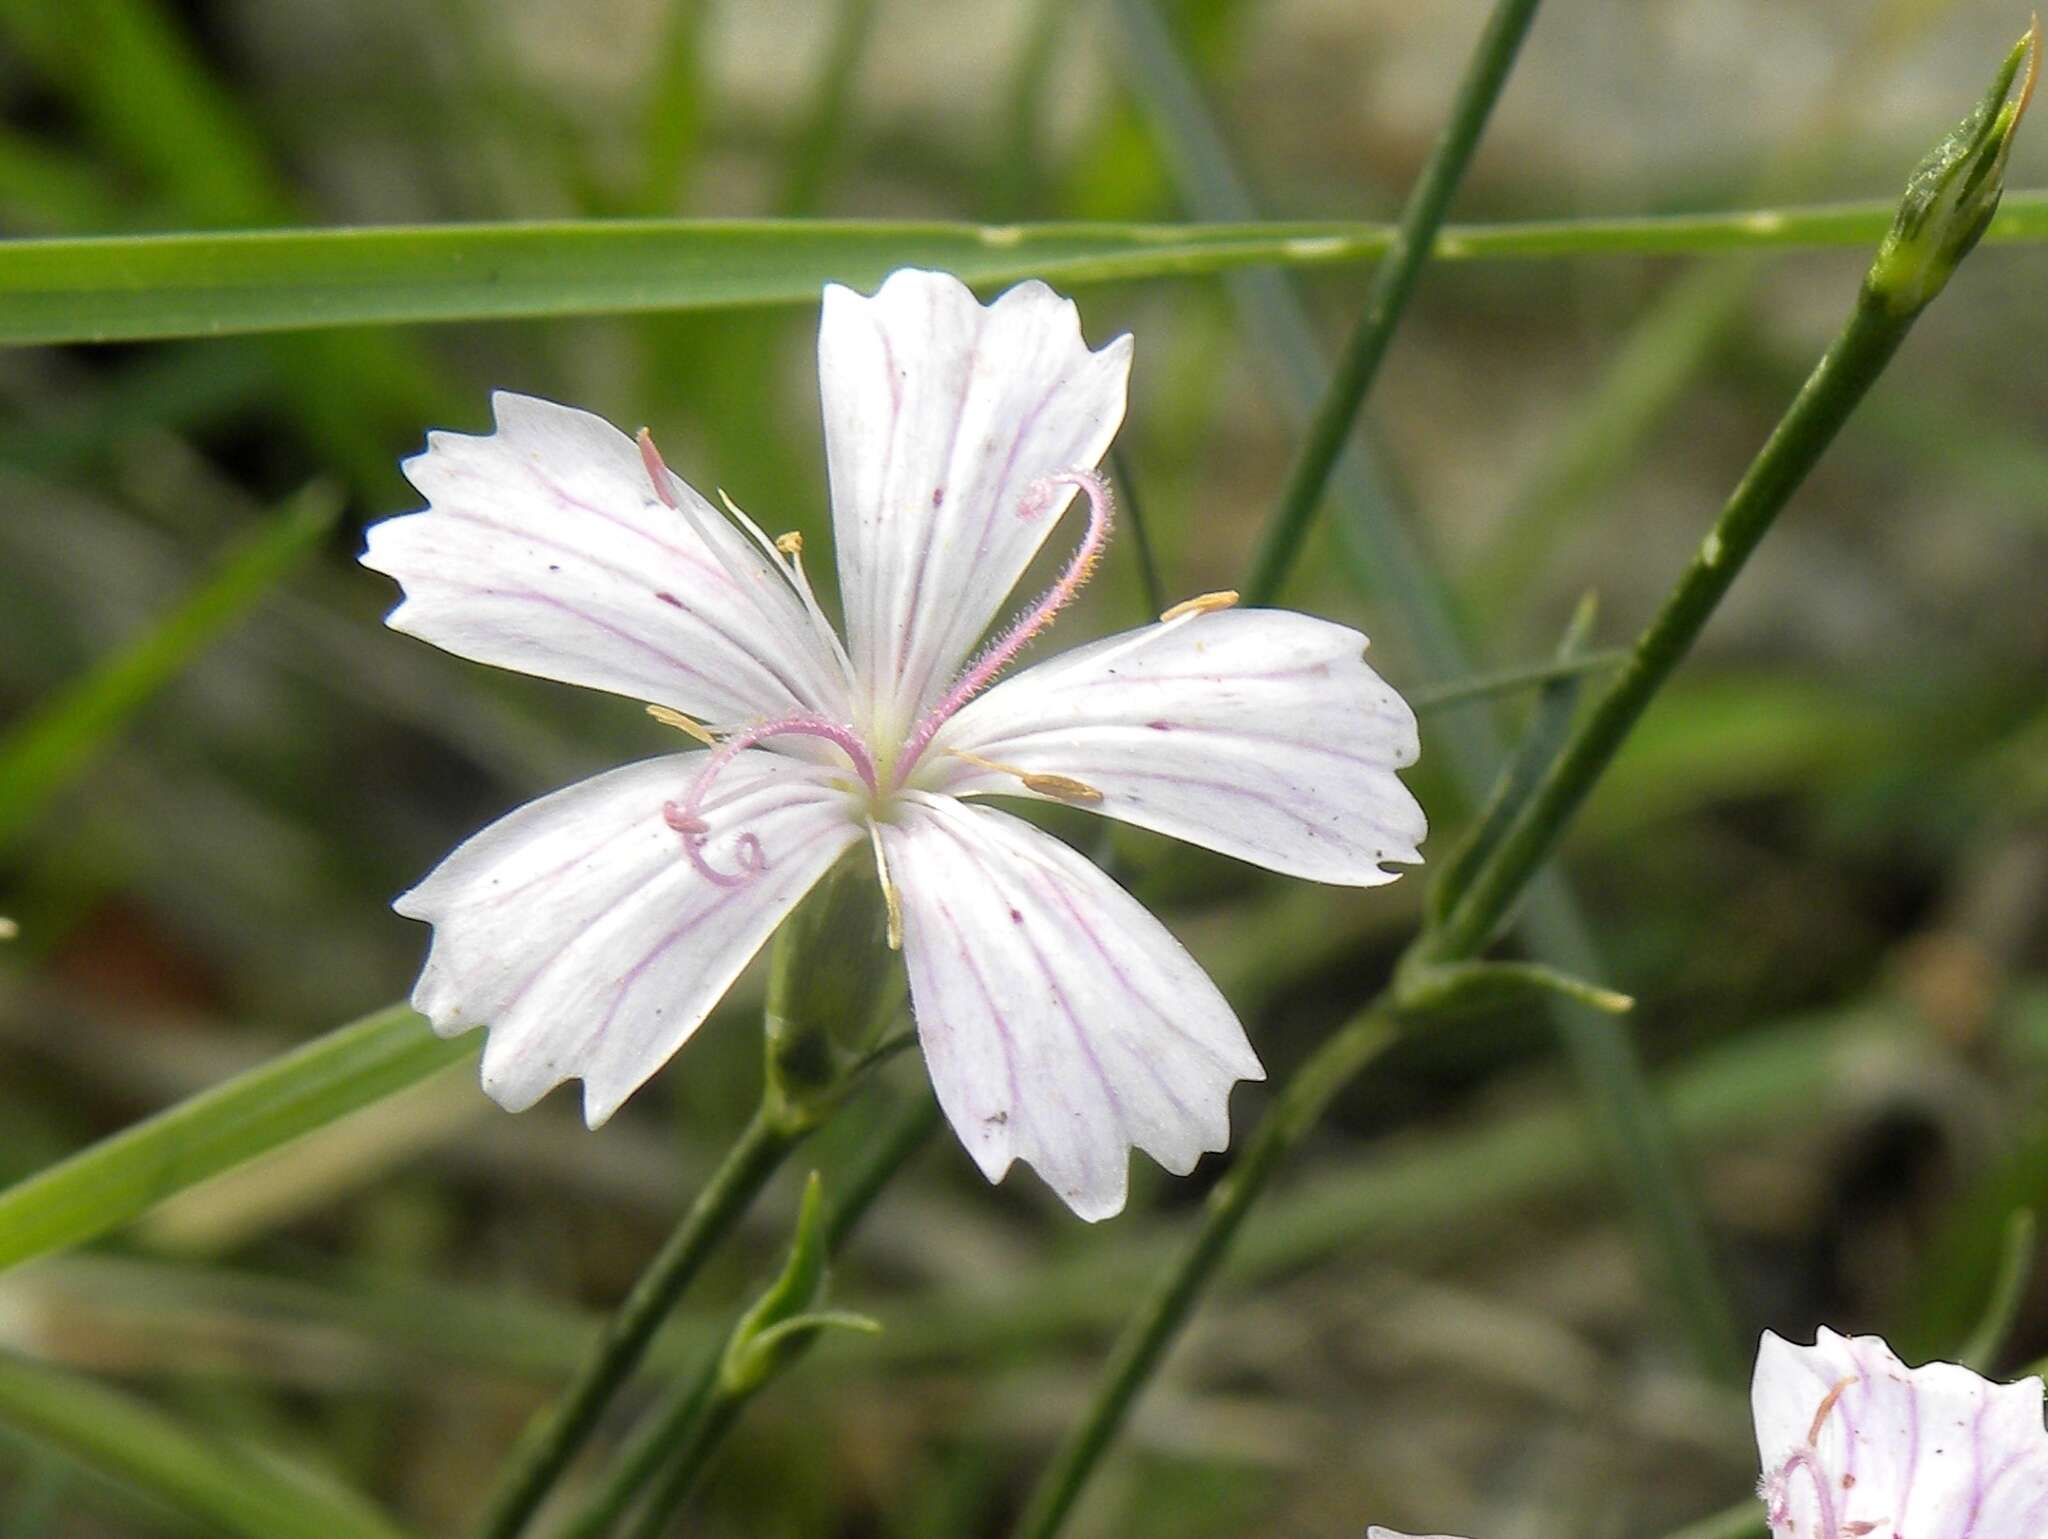
[[[1266,1072],[1135,898],[1018,818],[920,791],[883,844],[932,1088],[989,1180],[1026,1160],[1104,1219],[1133,1146],[1186,1174],[1229,1143],[1231,1086]]]

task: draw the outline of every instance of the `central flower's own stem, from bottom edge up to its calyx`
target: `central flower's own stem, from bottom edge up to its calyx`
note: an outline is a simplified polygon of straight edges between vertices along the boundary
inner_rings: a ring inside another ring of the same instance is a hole
[[[604,1334],[578,1369],[561,1400],[535,1422],[508,1461],[479,1539],[514,1539],[553,1490],[561,1471],[590,1439],[598,1416],[639,1365],[668,1312],[696,1277],[705,1258],[733,1228],[788,1152],[803,1141],[809,1125],[772,1117],[764,1103],[739,1139],[696,1195],[682,1223],[647,1264],[625,1303],[604,1326]]]

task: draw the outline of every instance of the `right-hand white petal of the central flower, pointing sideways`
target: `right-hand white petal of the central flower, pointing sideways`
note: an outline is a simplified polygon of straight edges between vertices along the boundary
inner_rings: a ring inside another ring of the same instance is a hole
[[[1366,637],[1284,609],[1227,609],[1112,635],[971,701],[920,785],[1030,795],[950,750],[1098,789],[1092,812],[1313,881],[1393,881],[1421,861],[1415,713]],[[926,779],[930,775],[932,779]],[[1057,797],[1047,797],[1057,799]]]

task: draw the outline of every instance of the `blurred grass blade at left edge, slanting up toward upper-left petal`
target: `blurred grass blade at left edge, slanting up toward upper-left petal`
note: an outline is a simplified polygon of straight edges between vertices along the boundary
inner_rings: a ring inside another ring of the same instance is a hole
[[[150,697],[311,555],[340,510],[332,488],[301,492],[274,521],[236,543],[215,572],[141,637],[0,738],[0,848]]]

